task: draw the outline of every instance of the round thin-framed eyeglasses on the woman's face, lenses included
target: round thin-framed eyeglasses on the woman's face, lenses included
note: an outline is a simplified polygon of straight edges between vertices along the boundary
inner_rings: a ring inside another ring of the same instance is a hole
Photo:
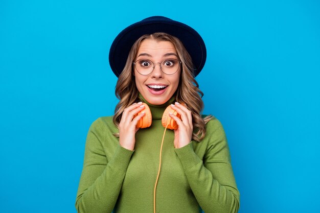
[[[164,74],[173,75],[178,71],[180,63],[181,61],[173,58],[167,58],[161,63],[153,63],[148,59],[140,59],[138,61],[132,62],[138,73],[144,76],[147,76],[153,72],[155,64],[160,65],[160,68]]]

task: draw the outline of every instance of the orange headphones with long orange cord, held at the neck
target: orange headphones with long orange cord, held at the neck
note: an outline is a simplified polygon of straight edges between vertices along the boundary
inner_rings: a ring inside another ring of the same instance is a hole
[[[145,109],[143,110],[143,111],[145,111],[145,115],[139,120],[138,124],[136,124],[136,128],[147,128],[147,127],[151,126],[152,116],[151,116],[150,108],[146,103],[142,103],[142,104],[145,106]],[[164,136],[162,138],[162,143],[161,143],[161,148],[160,148],[159,171],[158,171],[158,175],[156,177],[156,181],[155,181],[155,185],[154,185],[154,194],[153,194],[154,213],[155,213],[155,191],[156,191],[156,185],[157,185],[159,174],[160,174],[161,153],[162,153],[162,145],[164,143],[165,133],[166,133],[167,128],[172,129],[172,130],[178,129],[178,124],[176,123],[176,121],[174,121],[174,119],[172,119],[169,116],[169,113],[172,113],[172,114],[176,115],[179,119],[181,119],[181,116],[175,110],[173,110],[170,106],[168,106],[166,108],[164,114],[162,115],[162,126],[165,127],[165,132],[164,132]],[[141,114],[141,111],[138,112],[138,114],[134,115],[134,117],[138,116],[139,114]]]

